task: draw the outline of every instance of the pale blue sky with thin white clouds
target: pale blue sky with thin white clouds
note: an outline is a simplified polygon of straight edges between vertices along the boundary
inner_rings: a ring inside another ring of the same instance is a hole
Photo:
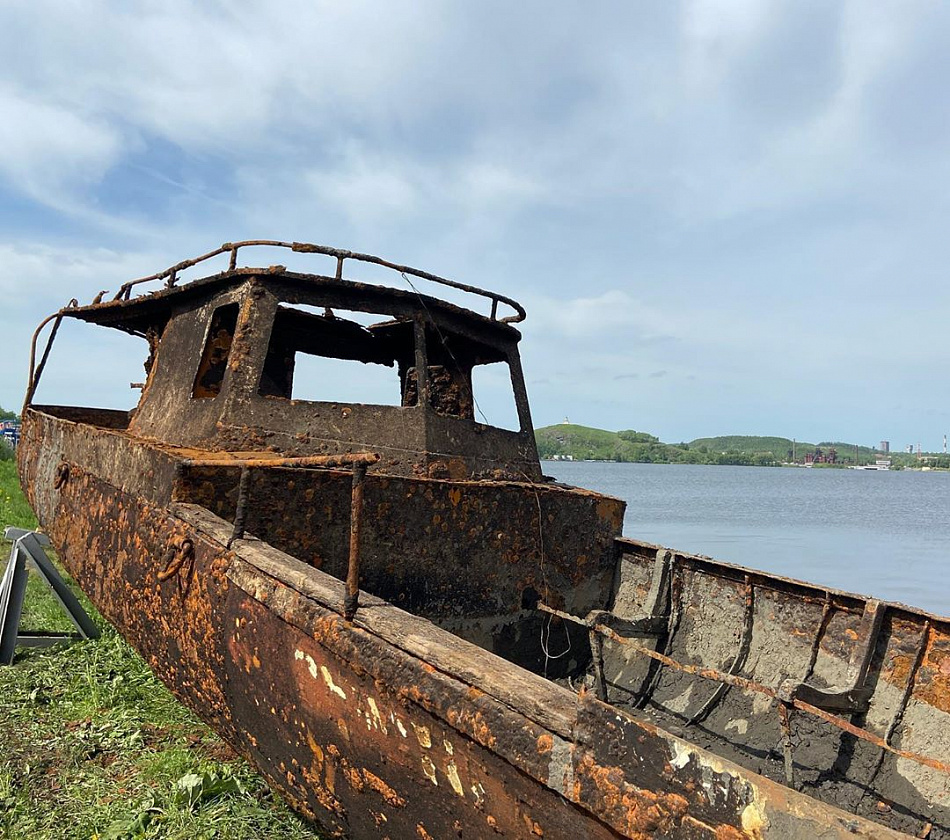
[[[265,238],[521,301],[536,426],[937,450],[948,46],[915,0],[7,0],[0,405],[71,298]],[[38,400],[131,407],[110,333]]]

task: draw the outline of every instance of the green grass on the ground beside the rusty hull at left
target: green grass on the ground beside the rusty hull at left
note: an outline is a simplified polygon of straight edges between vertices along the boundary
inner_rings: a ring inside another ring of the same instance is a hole
[[[0,527],[35,524],[13,463],[0,461]],[[10,544],[0,552],[2,571]],[[318,840],[80,599],[101,638],[23,649],[0,666],[0,838]],[[70,627],[39,580],[22,624]]]

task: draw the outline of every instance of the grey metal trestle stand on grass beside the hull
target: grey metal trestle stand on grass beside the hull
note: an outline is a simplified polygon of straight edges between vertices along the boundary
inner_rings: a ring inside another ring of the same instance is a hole
[[[46,556],[44,546],[49,545],[49,538],[23,528],[7,528],[3,536],[13,541],[13,547],[10,549],[10,561],[0,580],[0,665],[13,664],[17,646],[47,647],[74,639],[99,638],[99,628],[89,618],[62,575]],[[30,564],[50,588],[77,632],[20,631]]]

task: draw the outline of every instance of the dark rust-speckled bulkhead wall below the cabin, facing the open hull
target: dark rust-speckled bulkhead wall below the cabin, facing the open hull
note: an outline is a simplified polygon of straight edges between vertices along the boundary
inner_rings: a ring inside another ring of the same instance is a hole
[[[177,497],[230,520],[236,481],[236,470],[187,469]],[[343,471],[257,473],[246,529],[343,578],[350,487]],[[364,589],[526,667],[537,669],[543,660],[543,618],[527,606],[546,597],[586,612],[602,605],[613,586],[613,540],[623,517],[615,499],[549,485],[370,473],[363,510]],[[552,674],[576,669],[588,656],[585,634],[565,632],[572,655],[552,662]],[[556,645],[563,645],[560,631]]]

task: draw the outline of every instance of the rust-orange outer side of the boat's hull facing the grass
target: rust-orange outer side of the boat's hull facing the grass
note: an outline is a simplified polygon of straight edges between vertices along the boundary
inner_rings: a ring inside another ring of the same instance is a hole
[[[21,476],[70,573],[331,836],[899,836],[366,591],[347,622],[337,577],[258,539],[227,548],[231,523],[181,498],[187,453],[24,419]]]

